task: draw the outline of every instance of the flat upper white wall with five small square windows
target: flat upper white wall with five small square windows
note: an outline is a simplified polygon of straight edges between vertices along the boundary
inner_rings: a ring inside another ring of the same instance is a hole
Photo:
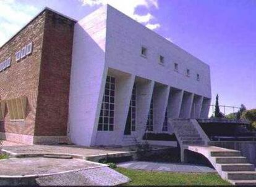
[[[147,58],[140,55],[147,47]],[[164,56],[164,65],[159,62]],[[167,39],[108,6],[106,63],[109,67],[136,74],[161,84],[211,98],[210,68]],[[174,63],[179,71],[174,71]],[[186,76],[186,69],[190,76]],[[200,74],[200,81],[197,81]]]

